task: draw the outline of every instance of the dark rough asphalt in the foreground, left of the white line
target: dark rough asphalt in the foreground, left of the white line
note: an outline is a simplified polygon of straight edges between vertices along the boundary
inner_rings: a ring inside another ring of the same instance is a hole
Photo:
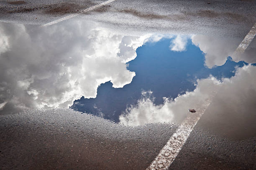
[[[146,169],[177,125],[125,127],[73,110],[0,116],[1,169]]]

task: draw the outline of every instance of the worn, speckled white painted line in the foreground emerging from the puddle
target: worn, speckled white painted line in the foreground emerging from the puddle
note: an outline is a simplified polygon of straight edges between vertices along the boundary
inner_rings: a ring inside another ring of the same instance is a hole
[[[196,109],[197,112],[189,113],[146,170],[166,170],[169,168],[209,105],[210,101],[203,108]]]

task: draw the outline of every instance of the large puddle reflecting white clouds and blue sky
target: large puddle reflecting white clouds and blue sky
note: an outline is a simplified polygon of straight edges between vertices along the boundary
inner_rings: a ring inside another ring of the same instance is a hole
[[[1,114],[70,107],[125,125],[181,122],[213,92],[218,112],[254,107],[255,43],[233,60],[237,39],[122,35],[88,21],[0,23],[0,35]]]

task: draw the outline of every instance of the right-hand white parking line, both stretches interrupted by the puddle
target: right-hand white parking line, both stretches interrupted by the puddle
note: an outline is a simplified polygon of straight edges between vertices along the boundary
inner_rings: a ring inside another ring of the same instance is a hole
[[[240,56],[246,48],[250,45],[253,38],[256,35],[256,23],[253,25],[248,34],[244,37],[243,41],[237,47],[236,51],[233,53],[232,58]],[[166,145],[161,149],[160,153],[156,156],[153,162],[149,165],[146,170],[166,170],[173,163],[179,151],[182,149],[183,145],[186,143],[191,131],[197,124],[200,117],[205,112],[206,108],[210,105],[210,99],[200,110],[195,113],[190,113],[187,118],[182,122],[176,132],[168,140]]]

